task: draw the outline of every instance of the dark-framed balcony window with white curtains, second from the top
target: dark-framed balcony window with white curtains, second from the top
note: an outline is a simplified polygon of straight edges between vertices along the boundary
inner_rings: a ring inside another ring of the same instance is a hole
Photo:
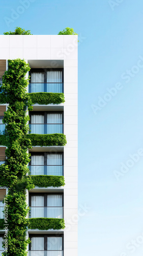
[[[32,134],[64,133],[62,112],[33,112],[30,117],[29,125]]]

